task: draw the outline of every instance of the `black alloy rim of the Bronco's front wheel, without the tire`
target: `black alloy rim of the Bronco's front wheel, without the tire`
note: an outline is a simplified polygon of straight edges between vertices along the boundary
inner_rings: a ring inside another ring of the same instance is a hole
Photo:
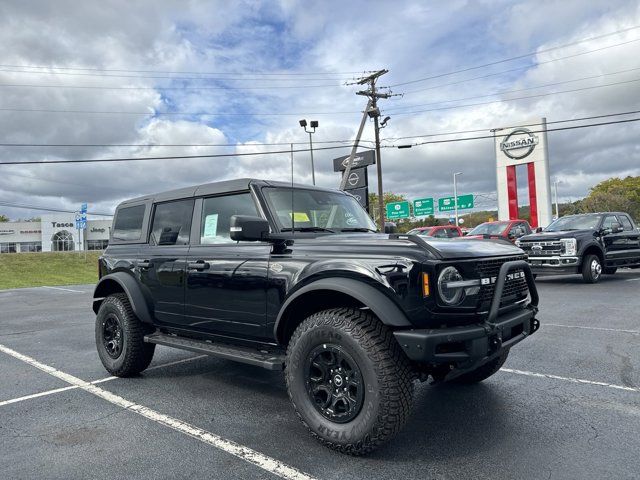
[[[364,403],[364,384],[358,364],[339,345],[322,344],[307,357],[307,394],[324,418],[346,423]]]

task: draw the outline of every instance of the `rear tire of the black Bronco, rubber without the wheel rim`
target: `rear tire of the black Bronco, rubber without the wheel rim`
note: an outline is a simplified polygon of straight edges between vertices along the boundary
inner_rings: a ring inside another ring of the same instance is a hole
[[[122,347],[117,358],[112,358],[103,344],[104,322],[110,316],[117,317],[122,332]],[[116,293],[105,298],[98,310],[95,326],[96,347],[104,368],[116,377],[131,377],[145,370],[155,351],[155,344],[144,341],[144,335],[150,330],[133,313],[126,294]]]

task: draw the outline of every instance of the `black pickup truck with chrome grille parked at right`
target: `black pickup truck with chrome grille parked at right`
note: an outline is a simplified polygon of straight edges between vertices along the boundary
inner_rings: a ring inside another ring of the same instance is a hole
[[[596,283],[619,267],[640,267],[640,230],[622,212],[568,215],[516,240],[534,274],[582,274]]]

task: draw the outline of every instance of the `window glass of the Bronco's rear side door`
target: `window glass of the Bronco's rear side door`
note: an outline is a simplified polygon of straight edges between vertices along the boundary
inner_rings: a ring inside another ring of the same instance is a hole
[[[152,245],[188,245],[193,199],[159,203],[153,214]]]

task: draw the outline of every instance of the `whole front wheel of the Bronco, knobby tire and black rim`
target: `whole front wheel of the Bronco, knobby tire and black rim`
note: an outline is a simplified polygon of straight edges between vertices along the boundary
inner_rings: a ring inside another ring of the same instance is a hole
[[[391,331],[368,311],[325,310],[289,342],[289,398],[311,434],[351,455],[368,453],[405,424],[413,370]]]

